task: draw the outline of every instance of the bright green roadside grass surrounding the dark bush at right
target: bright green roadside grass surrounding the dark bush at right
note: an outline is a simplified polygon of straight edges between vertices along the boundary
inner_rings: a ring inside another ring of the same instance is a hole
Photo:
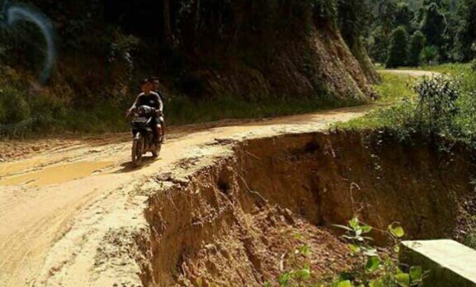
[[[443,64],[440,66],[426,66],[421,71],[436,71],[451,77],[459,87],[459,97],[454,103],[455,114],[445,118],[444,129],[439,135],[451,141],[464,141],[476,148],[476,73],[471,70],[470,64]],[[388,104],[374,109],[366,116],[351,120],[347,123],[338,123],[333,127],[342,130],[389,130],[405,138],[409,133],[419,132],[421,118],[417,118],[416,108],[419,97],[413,87],[421,79],[382,73],[383,83],[377,85],[381,103]],[[390,104],[392,103],[393,104]],[[424,119],[423,119],[424,120]]]

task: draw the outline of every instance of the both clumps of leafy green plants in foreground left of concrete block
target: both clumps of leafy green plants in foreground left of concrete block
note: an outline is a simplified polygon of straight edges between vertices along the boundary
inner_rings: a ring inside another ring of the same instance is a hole
[[[349,260],[353,258],[353,267],[342,270],[337,278],[315,278],[310,262],[311,248],[305,243],[301,235],[295,235],[297,240],[292,246],[289,256],[283,265],[286,266],[277,282],[281,287],[418,287],[421,286],[425,272],[421,267],[400,266],[398,257],[400,240],[405,236],[405,231],[399,225],[388,225],[387,230],[377,230],[353,218],[347,225],[335,225],[344,230],[342,240],[347,242]],[[390,246],[375,248],[370,235],[380,232],[388,237]],[[383,251],[382,251],[383,250]],[[265,287],[274,286],[267,282]]]

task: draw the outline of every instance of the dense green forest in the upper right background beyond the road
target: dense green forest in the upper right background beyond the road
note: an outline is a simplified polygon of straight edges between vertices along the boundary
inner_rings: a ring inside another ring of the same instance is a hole
[[[407,47],[411,51],[407,63],[411,66],[417,66],[419,58],[423,64],[441,64],[469,62],[475,57],[475,1],[368,0],[363,5],[370,7],[373,15],[363,34],[367,50],[376,62],[383,63],[388,58],[388,52],[393,49],[393,30],[398,27],[409,35],[419,31],[426,39],[421,48],[422,37],[418,34],[418,44]],[[388,67],[393,67],[394,63],[389,64]]]

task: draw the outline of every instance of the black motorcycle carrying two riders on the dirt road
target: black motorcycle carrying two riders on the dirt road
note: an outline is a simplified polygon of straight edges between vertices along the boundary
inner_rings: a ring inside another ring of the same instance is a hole
[[[139,106],[131,113],[132,134],[134,135],[132,141],[132,165],[139,167],[142,165],[142,155],[150,152],[154,158],[158,157],[162,148],[162,131],[159,133],[158,144],[155,144],[151,122],[154,116],[158,115],[156,109],[150,106]]]

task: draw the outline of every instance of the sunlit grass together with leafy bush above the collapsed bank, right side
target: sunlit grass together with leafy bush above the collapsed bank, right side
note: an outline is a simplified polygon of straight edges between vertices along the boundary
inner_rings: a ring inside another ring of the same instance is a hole
[[[445,64],[423,69],[445,74],[416,82],[386,75],[377,90],[383,99],[395,99],[397,103],[338,127],[391,130],[403,138],[419,132],[476,146],[476,74],[470,65]],[[398,99],[398,94],[404,97]]]

